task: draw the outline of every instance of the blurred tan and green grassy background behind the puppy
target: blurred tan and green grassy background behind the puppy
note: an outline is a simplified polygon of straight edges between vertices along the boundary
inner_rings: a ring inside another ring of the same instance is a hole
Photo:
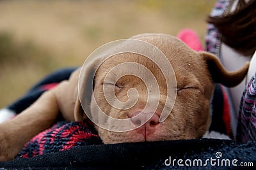
[[[144,32],[194,29],[202,43],[213,0],[0,0],[0,108],[104,43]]]

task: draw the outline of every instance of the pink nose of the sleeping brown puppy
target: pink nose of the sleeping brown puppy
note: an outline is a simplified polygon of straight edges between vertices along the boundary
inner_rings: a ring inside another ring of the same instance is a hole
[[[138,115],[138,117],[136,117]],[[152,113],[143,113],[140,111],[134,112],[131,114],[131,121],[134,125],[142,125],[147,119],[152,115]],[[159,124],[159,114],[154,113],[154,115],[147,121],[146,124],[142,125],[135,129],[137,132],[142,134],[145,139],[149,134],[152,134],[156,131],[156,127]]]

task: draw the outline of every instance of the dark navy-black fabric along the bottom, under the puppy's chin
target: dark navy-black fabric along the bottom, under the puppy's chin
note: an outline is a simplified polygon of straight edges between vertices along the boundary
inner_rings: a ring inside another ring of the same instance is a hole
[[[232,164],[217,166],[217,152],[222,153],[219,160],[237,159],[237,167]],[[31,159],[18,158],[10,162],[0,162],[0,167],[7,169],[241,169],[238,167],[240,162],[252,162],[256,166],[255,153],[255,143],[240,144],[220,139],[156,141],[81,146],[63,152],[38,155]],[[177,161],[176,164],[166,166],[164,162],[170,157],[171,160],[184,161],[202,159],[203,166],[181,167],[178,166]],[[210,162],[205,164],[205,160],[211,157],[216,159],[215,166],[211,166]]]

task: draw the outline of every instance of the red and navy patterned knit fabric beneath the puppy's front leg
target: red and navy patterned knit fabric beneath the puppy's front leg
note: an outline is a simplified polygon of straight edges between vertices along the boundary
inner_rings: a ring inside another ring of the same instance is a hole
[[[84,145],[102,144],[90,122],[58,122],[32,138],[17,157],[29,158],[46,153],[70,150]]]

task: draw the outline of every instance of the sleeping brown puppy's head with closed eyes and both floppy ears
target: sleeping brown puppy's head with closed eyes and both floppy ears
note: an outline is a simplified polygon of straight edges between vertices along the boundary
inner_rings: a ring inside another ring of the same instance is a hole
[[[100,120],[99,115],[104,113],[112,118],[127,119],[131,125],[138,127],[131,131],[116,132],[96,125],[102,141],[124,143],[201,138],[211,123],[210,100],[214,83],[223,83],[228,87],[237,85],[243,80],[248,64],[236,72],[228,73],[216,56],[206,52],[195,52],[173,36],[140,34],[131,39],[145,41],[161,50],[170,62],[175,77],[166,78],[163,69],[168,70],[168,68],[158,66],[156,62],[141,53],[124,50],[123,53],[116,53],[111,57],[104,55],[105,57],[92,60],[90,67],[85,68],[84,71],[82,69],[83,74],[79,80],[82,82],[81,92],[85,96],[82,97],[82,105],[83,101],[90,101],[89,117],[99,122],[106,122],[109,127],[115,126],[109,123],[108,117]],[[129,42],[116,48],[125,49],[127,46]],[[115,48],[112,50],[115,51]],[[163,59],[159,56],[159,60]],[[136,64],[131,65],[131,63]],[[116,66],[118,69],[115,69]],[[144,73],[141,66],[150,74]],[[95,69],[97,71],[93,76]],[[143,75],[145,80],[131,74],[134,71]],[[88,83],[90,81],[93,81],[93,85]],[[168,81],[175,83],[168,85]],[[151,92],[150,89],[148,90],[148,84],[154,86],[156,85],[154,82],[157,82],[159,97],[154,97],[154,94],[148,96]],[[93,95],[86,91],[88,86],[93,88]],[[131,89],[136,89],[136,92],[131,92]],[[175,89],[174,105],[168,103],[170,89]],[[136,99],[136,103],[131,105],[129,101],[132,97]],[[148,104],[150,106],[144,110],[148,99],[151,103],[157,103],[157,107],[150,108],[152,104]],[[159,118],[163,113],[168,117],[161,122]],[[76,104],[75,117],[76,120],[87,118],[79,100]]]

